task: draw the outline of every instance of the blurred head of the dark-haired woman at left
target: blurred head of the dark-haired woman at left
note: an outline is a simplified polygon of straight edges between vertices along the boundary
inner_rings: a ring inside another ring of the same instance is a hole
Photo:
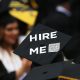
[[[0,44],[15,45],[19,35],[17,20],[8,13],[2,14],[0,16],[0,30]]]

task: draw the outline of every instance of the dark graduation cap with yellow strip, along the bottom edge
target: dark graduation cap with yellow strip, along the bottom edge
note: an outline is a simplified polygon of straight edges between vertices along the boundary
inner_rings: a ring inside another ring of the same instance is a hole
[[[80,64],[71,61],[48,64],[33,68],[24,80],[78,80]]]

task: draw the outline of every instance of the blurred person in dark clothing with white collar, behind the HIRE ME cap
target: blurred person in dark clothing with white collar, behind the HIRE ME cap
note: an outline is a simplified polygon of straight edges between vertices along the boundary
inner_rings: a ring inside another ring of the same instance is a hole
[[[56,0],[55,2],[55,11],[49,14],[44,24],[70,35],[72,29],[70,27],[70,17],[72,14],[70,0]]]

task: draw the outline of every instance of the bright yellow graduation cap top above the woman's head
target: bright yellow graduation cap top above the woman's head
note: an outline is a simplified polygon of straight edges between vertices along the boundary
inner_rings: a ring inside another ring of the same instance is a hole
[[[35,24],[38,16],[38,11],[36,10],[18,11],[13,9],[9,13],[20,21],[27,23],[29,26],[33,26]]]

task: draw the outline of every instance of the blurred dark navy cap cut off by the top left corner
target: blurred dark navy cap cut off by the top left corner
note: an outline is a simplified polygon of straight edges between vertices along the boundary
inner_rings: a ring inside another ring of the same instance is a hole
[[[0,0],[0,14],[4,13],[9,9],[11,0]]]

